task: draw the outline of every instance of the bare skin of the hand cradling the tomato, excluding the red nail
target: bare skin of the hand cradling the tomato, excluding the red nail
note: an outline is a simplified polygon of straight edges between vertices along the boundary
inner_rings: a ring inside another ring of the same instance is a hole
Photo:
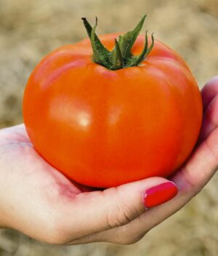
[[[203,124],[185,164],[169,177],[177,196],[145,207],[145,191],[166,183],[150,177],[94,190],[72,183],[33,148],[23,124],[0,131],[0,225],[49,244],[133,244],[201,191],[218,167],[218,76],[202,89]]]

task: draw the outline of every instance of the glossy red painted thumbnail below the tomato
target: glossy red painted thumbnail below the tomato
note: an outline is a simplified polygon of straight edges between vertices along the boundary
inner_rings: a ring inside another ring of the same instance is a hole
[[[174,198],[178,193],[177,186],[171,181],[156,185],[145,191],[144,204],[145,207],[155,207]]]

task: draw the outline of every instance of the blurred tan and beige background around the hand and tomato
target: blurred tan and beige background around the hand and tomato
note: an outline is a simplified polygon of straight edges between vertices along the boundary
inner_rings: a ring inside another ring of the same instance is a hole
[[[0,127],[23,121],[23,90],[39,60],[86,37],[81,17],[94,23],[97,15],[100,34],[128,31],[143,14],[143,29],[182,55],[199,87],[218,74],[218,0],[0,0]],[[215,175],[199,196],[137,244],[55,247],[1,230],[0,255],[217,256],[217,182]]]

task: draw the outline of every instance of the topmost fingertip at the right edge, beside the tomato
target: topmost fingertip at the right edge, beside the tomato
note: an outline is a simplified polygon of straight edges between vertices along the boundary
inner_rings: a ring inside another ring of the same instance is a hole
[[[203,109],[206,109],[211,100],[218,94],[218,76],[214,76],[201,90]]]

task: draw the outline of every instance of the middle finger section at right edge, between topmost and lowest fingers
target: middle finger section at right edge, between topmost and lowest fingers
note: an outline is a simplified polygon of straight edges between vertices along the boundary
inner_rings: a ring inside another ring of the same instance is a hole
[[[218,91],[217,95],[213,98],[213,100],[211,100],[203,113],[203,122],[199,142],[208,137],[216,127],[218,127]]]

